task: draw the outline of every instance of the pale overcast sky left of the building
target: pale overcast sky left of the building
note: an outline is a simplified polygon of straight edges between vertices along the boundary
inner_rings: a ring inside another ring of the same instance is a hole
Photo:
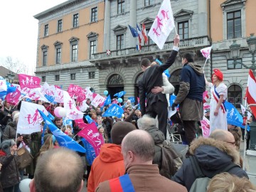
[[[11,56],[36,68],[38,20],[34,15],[67,0],[0,0],[0,64]]]

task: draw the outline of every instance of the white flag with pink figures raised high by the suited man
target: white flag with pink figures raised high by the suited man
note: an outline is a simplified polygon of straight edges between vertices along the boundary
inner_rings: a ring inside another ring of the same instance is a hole
[[[171,1],[164,0],[159,9],[148,36],[162,49],[171,31],[175,28]]]

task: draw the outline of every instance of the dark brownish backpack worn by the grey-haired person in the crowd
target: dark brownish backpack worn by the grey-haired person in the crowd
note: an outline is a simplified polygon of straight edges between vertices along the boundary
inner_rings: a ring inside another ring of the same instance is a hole
[[[171,179],[171,176],[181,168],[182,155],[178,154],[171,143],[166,140],[162,144],[157,144],[161,147],[161,167],[159,167],[159,173],[161,176]]]

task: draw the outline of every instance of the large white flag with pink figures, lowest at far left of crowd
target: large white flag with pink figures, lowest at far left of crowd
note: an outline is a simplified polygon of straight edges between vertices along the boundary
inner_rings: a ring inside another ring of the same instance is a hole
[[[48,115],[48,112],[43,105],[25,101],[21,102],[17,133],[31,134],[33,132],[41,132],[41,122],[43,122],[43,118],[38,110],[41,110],[44,114]]]

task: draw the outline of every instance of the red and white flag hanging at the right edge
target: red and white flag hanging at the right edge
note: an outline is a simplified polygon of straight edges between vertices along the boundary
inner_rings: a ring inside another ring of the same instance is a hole
[[[249,70],[245,97],[249,105],[256,104],[256,79],[252,70]],[[256,117],[256,107],[250,107],[250,109],[252,110],[252,114]]]

